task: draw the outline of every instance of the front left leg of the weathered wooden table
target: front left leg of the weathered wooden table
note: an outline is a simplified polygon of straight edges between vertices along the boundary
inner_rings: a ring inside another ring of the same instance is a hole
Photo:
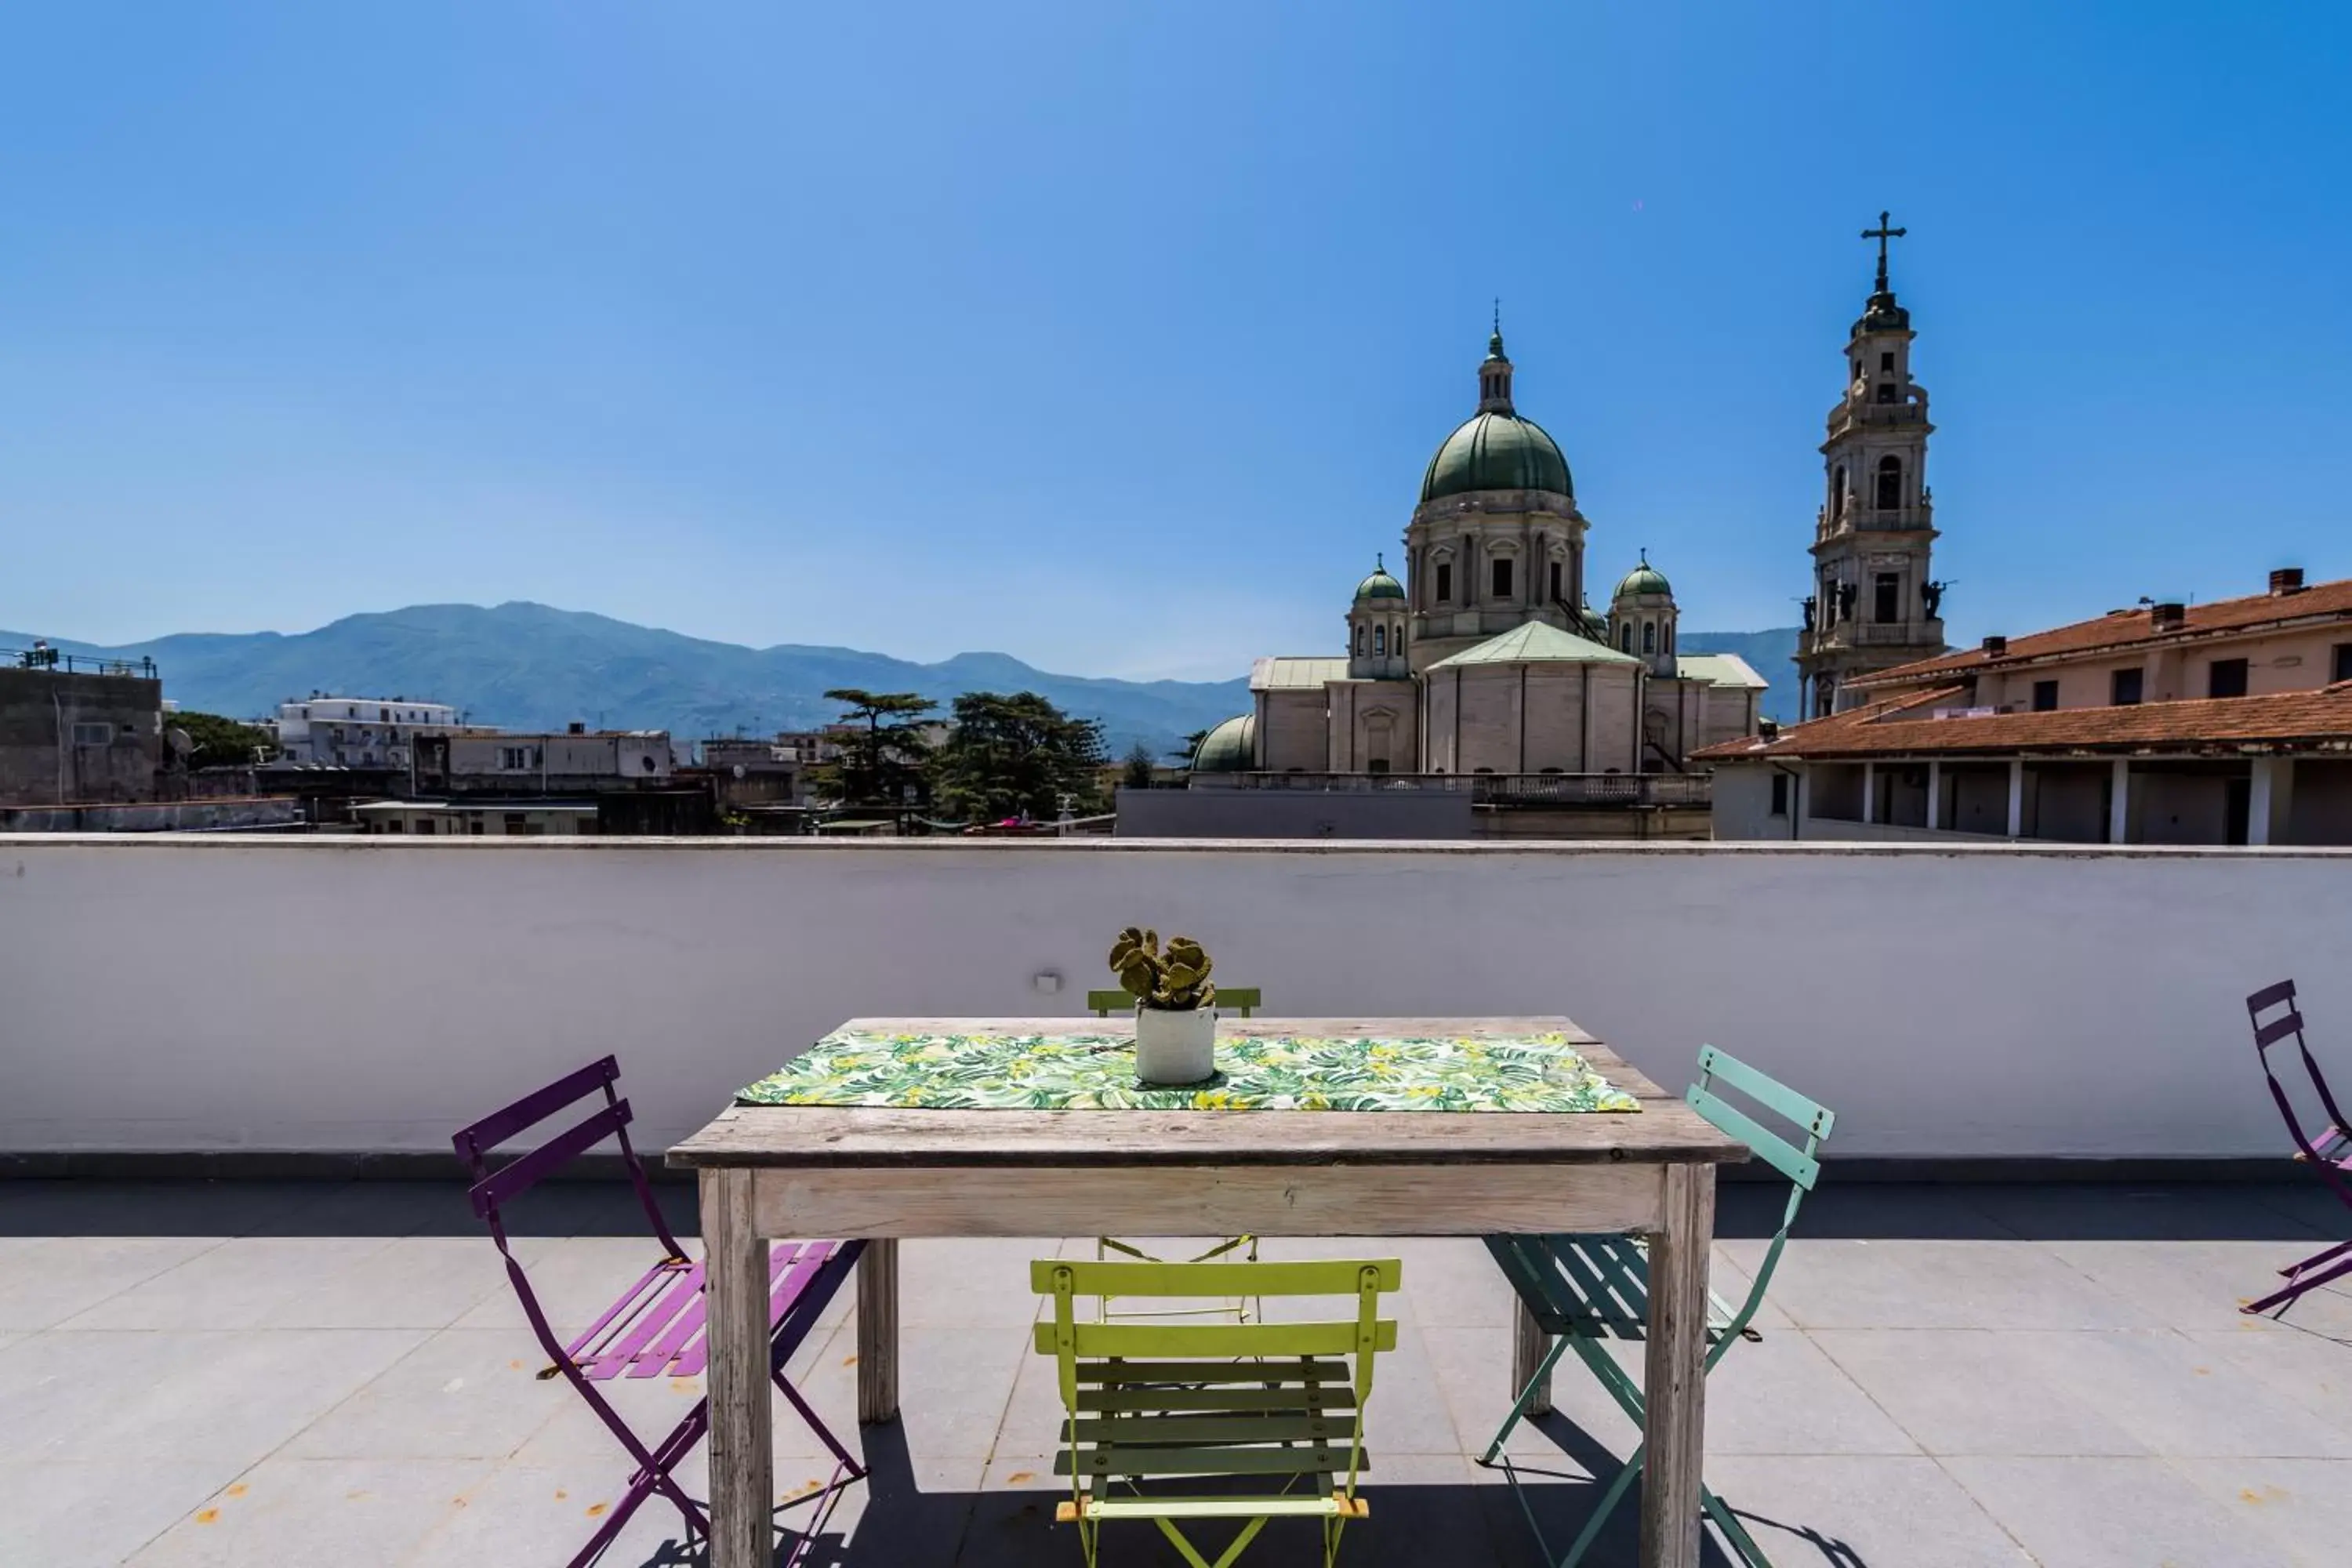
[[[767,1237],[750,1171],[703,1171],[710,1345],[710,1568],[767,1568],[776,1432],[767,1403]]]

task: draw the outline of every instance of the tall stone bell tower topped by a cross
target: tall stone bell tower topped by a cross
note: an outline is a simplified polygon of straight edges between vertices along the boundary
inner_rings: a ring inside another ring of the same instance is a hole
[[[1886,282],[1886,242],[1905,230],[1879,214],[1879,275],[1846,341],[1846,393],[1820,444],[1828,496],[1813,520],[1813,583],[1797,632],[1802,715],[1846,705],[1856,675],[1933,658],[1943,644],[1943,583],[1931,567],[1936,508],[1926,487],[1926,388],[1912,381],[1917,336]]]

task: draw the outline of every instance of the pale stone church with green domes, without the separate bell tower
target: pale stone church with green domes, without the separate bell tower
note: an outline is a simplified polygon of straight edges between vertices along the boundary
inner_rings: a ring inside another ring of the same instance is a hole
[[[1675,590],[1644,555],[1597,614],[1576,484],[1512,400],[1496,324],[1477,409],[1430,458],[1404,576],[1376,559],[1338,654],[1258,658],[1249,715],[1195,773],[1653,773],[1757,731],[1759,677],[1675,646]]]

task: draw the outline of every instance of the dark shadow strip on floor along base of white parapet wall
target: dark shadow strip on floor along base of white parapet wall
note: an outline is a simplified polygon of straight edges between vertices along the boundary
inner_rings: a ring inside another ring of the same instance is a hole
[[[1811,1239],[1912,1241],[2303,1241],[2345,1211],[2314,1180],[2279,1182],[1853,1182],[1832,1166],[1797,1222]],[[661,1182],[677,1234],[699,1229],[694,1187]],[[1717,1237],[1769,1237],[1785,1187],[1724,1182]],[[644,1215],[619,1180],[546,1182],[508,1211],[515,1234],[630,1237]],[[0,1237],[477,1237],[456,1180],[0,1182]]]

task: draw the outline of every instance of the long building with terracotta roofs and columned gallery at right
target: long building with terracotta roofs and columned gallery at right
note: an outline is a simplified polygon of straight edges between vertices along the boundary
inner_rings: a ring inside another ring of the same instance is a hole
[[[1722,839],[2352,844],[2352,581],[1985,637],[1698,762]]]

